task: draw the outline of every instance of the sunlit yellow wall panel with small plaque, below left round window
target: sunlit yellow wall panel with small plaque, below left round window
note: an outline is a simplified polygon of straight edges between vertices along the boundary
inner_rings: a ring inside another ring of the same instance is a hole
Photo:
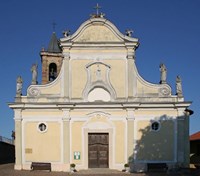
[[[36,162],[61,161],[61,125],[58,122],[46,122],[48,129],[41,133],[39,122],[26,122],[24,125],[25,160]]]

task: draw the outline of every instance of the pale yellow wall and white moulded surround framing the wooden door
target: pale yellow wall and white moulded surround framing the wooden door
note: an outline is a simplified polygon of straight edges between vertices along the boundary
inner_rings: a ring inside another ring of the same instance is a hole
[[[121,121],[121,120],[113,120],[110,121],[107,117],[103,116],[103,115],[96,115],[93,116],[89,119],[88,122],[81,122],[81,121],[73,121],[71,123],[71,154],[72,154],[72,162],[74,162],[75,164],[81,164],[85,161],[82,161],[82,156],[84,151],[82,151],[82,149],[85,149],[85,147],[87,148],[88,143],[84,143],[87,141],[87,139],[85,139],[86,141],[84,141],[84,138],[88,138],[88,133],[84,134],[84,130],[83,130],[83,125],[86,125],[85,128],[88,128],[88,126],[92,126],[92,125],[97,125],[97,123],[102,123],[102,124],[107,124],[108,125],[108,129],[104,129],[103,130],[103,126],[102,129],[101,128],[92,128],[92,133],[95,132],[102,132],[104,133],[105,131],[108,132],[110,131],[110,128],[114,128],[115,129],[115,133],[111,134],[111,136],[109,136],[109,138],[111,138],[110,140],[110,144],[111,146],[113,146],[114,148],[112,148],[112,151],[109,151],[111,153],[113,153],[114,150],[114,156],[112,155],[112,157],[115,157],[115,163],[117,164],[121,164],[121,163],[125,163],[125,150],[126,150],[126,146],[125,146],[125,122]],[[112,126],[112,125],[113,126]],[[91,131],[91,129],[87,129],[88,131]],[[113,139],[112,139],[113,138]],[[114,142],[114,143],[112,143]],[[80,160],[74,160],[73,154],[74,152],[81,152],[81,159]],[[86,151],[87,152],[87,151]],[[87,156],[85,156],[87,157]]]

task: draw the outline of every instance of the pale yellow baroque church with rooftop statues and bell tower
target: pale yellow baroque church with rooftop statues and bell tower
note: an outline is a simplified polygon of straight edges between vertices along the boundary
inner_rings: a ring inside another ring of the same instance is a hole
[[[131,31],[122,34],[101,15],[85,21],[59,41],[53,33],[40,53],[32,84],[15,102],[15,169],[49,162],[54,171],[110,168],[147,170],[148,163],[169,168],[189,164],[189,111],[181,81],[172,95],[166,68],[160,83],[144,80],[135,65],[139,46]],[[159,81],[158,81],[159,82]]]

